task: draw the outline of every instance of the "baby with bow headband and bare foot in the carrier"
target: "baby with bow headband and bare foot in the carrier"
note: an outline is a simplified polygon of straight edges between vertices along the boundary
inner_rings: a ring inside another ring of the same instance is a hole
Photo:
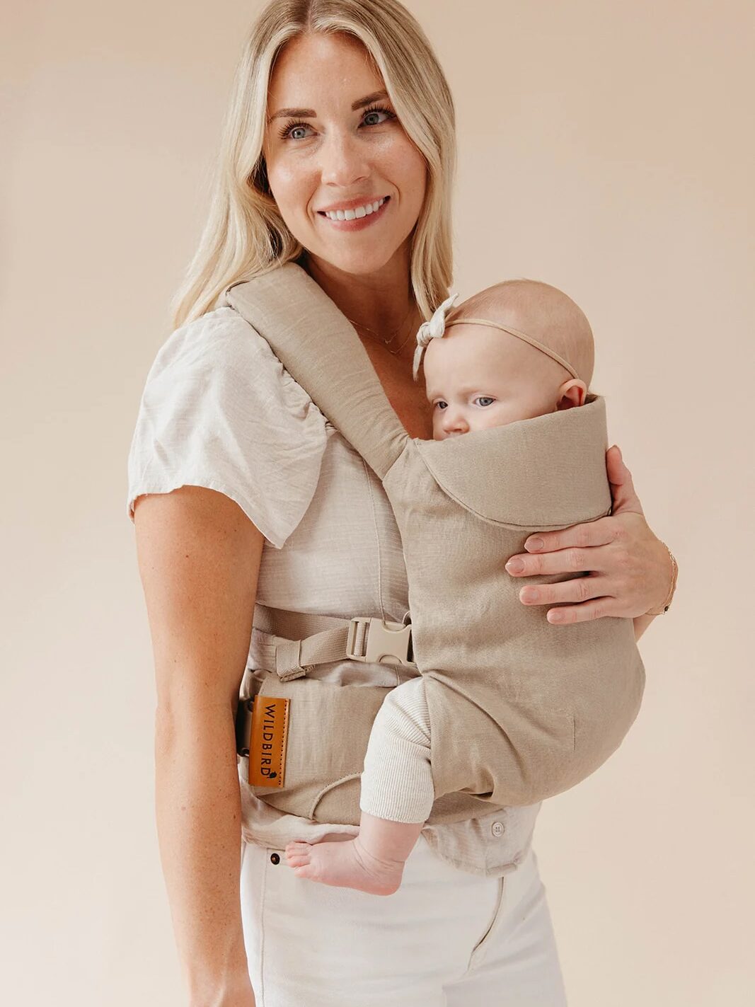
[[[566,294],[546,283],[508,280],[475,294],[447,320],[454,300],[444,301],[417,335],[414,374],[424,353],[435,440],[584,404],[593,336]],[[393,689],[375,717],[358,835],[290,843],[286,857],[298,876],[381,895],[399,888],[435,797],[430,740],[419,676]]]

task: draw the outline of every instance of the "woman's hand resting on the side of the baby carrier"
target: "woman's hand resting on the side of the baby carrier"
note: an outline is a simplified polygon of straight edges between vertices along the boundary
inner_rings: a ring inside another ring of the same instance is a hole
[[[662,604],[668,594],[670,557],[645,521],[631,472],[616,445],[606,452],[606,471],[613,497],[611,517],[560,532],[539,532],[524,543],[526,553],[517,553],[506,563],[512,577],[586,573],[557,584],[521,588],[522,604],[559,603],[549,609],[549,622],[585,622],[604,615],[635,618]]]

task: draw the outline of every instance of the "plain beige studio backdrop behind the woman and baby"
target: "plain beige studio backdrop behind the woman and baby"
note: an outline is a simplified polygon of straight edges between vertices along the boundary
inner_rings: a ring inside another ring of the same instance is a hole
[[[457,286],[523,275],[583,306],[611,437],[682,569],[641,644],[636,727],[538,827],[570,1002],[744,1007],[755,8],[409,6],[458,104]],[[57,0],[10,14],[0,975],[14,1004],[184,1002],[126,456],[258,9]]]

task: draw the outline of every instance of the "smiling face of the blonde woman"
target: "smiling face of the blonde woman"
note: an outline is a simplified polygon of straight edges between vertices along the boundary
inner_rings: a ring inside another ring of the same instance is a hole
[[[406,255],[425,160],[360,43],[289,42],[270,82],[264,154],[281,215],[310,255],[356,276]]]

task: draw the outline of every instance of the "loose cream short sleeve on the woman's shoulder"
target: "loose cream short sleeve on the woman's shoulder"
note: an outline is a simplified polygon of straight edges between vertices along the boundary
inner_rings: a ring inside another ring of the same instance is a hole
[[[128,459],[128,515],[143,493],[206,486],[276,549],[314,495],[326,422],[232,307],[176,329],[147,375]]]

